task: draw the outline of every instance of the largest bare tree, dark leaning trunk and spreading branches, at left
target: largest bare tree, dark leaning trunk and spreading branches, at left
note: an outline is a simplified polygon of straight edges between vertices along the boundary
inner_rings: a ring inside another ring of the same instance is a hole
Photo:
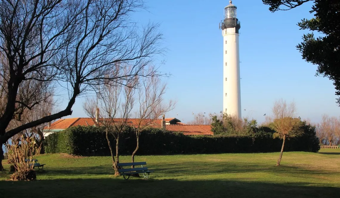
[[[0,1],[0,71],[6,93],[1,96],[0,144],[71,115],[75,99],[100,85],[159,75],[144,72],[164,52],[158,24],[138,28],[131,20],[143,8],[142,0]],[[128,66],[128,72],[121,72]],[[112,72],[115,67],[123,69]],[[32,110],[56,85],[68,90],[65,109],[7,130],[12,119],[20,120],[24,109]]]

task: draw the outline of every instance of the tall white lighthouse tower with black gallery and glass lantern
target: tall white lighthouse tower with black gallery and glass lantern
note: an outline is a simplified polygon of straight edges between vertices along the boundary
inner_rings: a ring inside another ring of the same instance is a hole
[[[241,119],[239,29],[237,7],[229,1],[220,23],[223,35],[223,113]]]

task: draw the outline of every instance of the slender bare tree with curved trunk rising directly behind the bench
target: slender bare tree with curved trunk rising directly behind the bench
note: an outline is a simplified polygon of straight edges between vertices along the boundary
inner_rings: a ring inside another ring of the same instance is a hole
[[[131,155],[131,162],[134,162],[135,154],[139,148],[140,134],[150,127],[159,125],[160,123],[157,123],[157,119],[174,108],[175,101],[164,102],[165,90],[166,84],[162,83],[157,76],[141,79],[140,87],[138,88],[139,109],[136,112],[138,123],[135,128],[137,144]]]

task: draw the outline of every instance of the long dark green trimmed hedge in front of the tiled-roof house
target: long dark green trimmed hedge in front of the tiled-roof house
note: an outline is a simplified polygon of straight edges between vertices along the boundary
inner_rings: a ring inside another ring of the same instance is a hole
[[[314,132],[315,136],[315,132]],[[320,149],[318,139],[306,133],[297,139],[286,141],[285,151],[312,151]],[[136,147],[136,136],[128,128],[120,137],[119,152],[131,155]],[[110,136],[115,150],[115,140]],[[254,137],[187,136],[162,129],[150,129],[141,133],[138,155],[238,153],[280,151],[282,140],[273,139],[272,133],[260,131]],[[315,142],[316,141],[316,142]],[[99,127],[72,127],[45,138],[46,153],[68,153],[83,156],[109,156],[105,132]],[[114,151],[115,152],[115,151]]]

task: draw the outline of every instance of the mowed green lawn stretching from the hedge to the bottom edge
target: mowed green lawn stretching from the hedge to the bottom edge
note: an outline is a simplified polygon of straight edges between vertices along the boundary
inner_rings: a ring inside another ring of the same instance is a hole
[[[149,180],[114,177],[110,157],[38,156],[37,181],[8,181],[0,197],[340,197],[340,149],[319,153],[137,156],[155,172]],[[122,156],[120,162],[130,162]],[[3,161],[4,168],[9,165]]]

